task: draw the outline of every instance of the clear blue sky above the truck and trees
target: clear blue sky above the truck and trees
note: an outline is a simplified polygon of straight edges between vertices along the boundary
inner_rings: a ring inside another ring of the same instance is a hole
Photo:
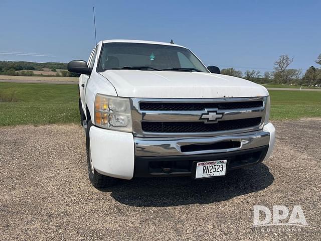
[[[0,60],[87,60],[93,6],[97,40],[174,39],[220,68],[263,72],[288,54],[304,70],[321,53],[321,1],[1,0]]]

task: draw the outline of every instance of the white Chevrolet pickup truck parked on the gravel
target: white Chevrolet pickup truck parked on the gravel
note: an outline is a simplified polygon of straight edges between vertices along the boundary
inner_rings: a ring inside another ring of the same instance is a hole
[[[106,40],[80,73],[89,179],[223,176],[266,160],[275,129],[261,85],[220,74],[172,43]]]

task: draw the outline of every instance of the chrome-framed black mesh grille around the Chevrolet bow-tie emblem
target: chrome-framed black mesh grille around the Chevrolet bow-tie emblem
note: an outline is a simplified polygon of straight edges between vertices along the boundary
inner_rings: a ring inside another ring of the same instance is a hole
[[[260,130],[266,97],[214,99],[132,98],[133,132],[136,137],[218,136]],[[215,122],[202,114],[224,113]]]

